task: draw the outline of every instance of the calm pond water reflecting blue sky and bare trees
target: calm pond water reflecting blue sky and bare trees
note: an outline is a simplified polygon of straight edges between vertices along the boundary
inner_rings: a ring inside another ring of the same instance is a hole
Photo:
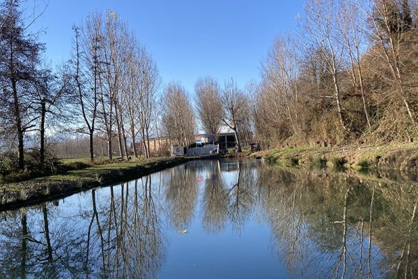
[[[417,278],[417,183],[379,177],[205,160],[3,212],[0,278]]]

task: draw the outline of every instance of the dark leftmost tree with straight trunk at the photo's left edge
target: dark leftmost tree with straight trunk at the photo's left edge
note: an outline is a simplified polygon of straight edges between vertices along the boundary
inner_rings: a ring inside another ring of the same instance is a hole
[[[18,167],[24,169],[24,133],[36,127],[38,116],[33,116],[31,99],[36,80],[36,67],[40,63],[43,45],[33,36],[27,36],[22,22],[19,1],[6,1],[7,14],[1,14],[4,24],[0,29],[0,79],[3,86],[2,110],[10,115],[6,119],[12,124],[17,136]]]

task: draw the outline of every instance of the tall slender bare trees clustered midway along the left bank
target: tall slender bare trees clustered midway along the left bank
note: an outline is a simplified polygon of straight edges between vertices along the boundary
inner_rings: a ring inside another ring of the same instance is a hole
[[[78,131],[90,139],[91,160],[95,133],[106,138],[109,160],[114,153],[114,135],[121,157],[129,157],[128,135],[132,146],[140,135],[149,158],[148,139],[157,115],[160,87],[155,62],[127,24],[111,11],[90,15],[82,27],[73,29],[75,103],[84,119]],[[137,156],[136,149],[133,151]]]

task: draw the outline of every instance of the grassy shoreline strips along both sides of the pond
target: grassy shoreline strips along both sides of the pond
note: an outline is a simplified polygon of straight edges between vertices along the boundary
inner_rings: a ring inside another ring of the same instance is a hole
[[[229,153],[219,158],[256,158],[283,167],[309,167],[356,172],[393,170],[418,173],[418,145],[286,147],[251,153]],[[194,157],[159,158],[141,163],[109,163],[0,185],[0,212],[68,197],[96,187],[139,179],[191,160]]]

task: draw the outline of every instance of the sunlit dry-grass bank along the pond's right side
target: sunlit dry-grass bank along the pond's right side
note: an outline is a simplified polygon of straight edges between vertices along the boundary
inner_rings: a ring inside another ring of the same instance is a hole
[[[353,169],[418,169],[418,145],[359,145],[341,147],[287,147],[251,153],[253,158],[282,165]]]

